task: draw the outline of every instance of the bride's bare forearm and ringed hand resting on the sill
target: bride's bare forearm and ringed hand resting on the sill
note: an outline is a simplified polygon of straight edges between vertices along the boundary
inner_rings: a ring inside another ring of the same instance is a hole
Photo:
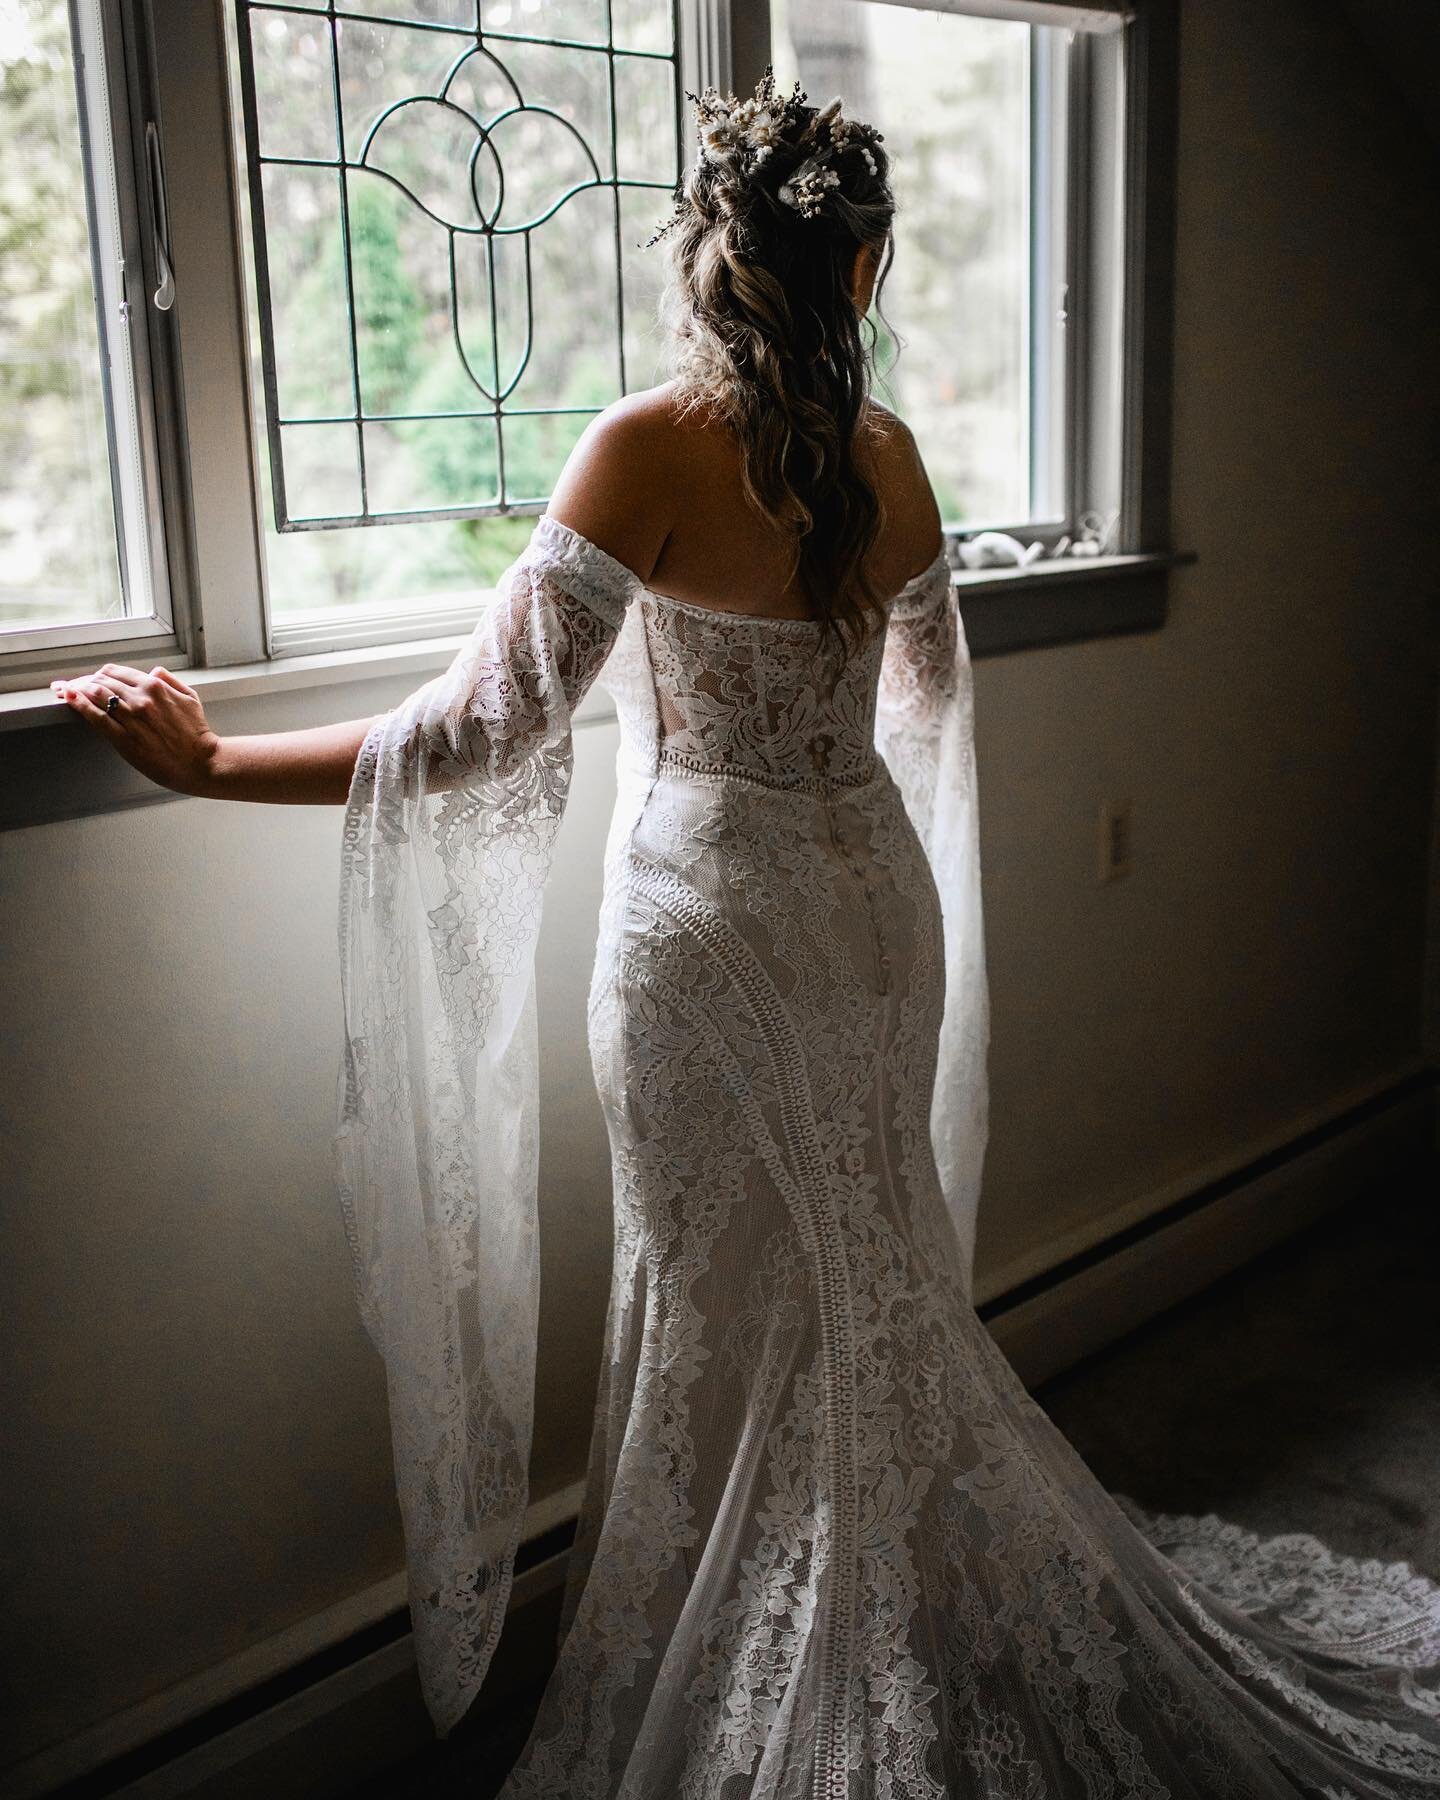
[[[142,776],[202,799],[344,806],[355,758],[374,724],[374,718],[349,718],[306,731],[220,738],[194,688],[160,664],[144,675],[106,662],[94,675],[50,686]],[[108,713],[110,695],[119,704]]]

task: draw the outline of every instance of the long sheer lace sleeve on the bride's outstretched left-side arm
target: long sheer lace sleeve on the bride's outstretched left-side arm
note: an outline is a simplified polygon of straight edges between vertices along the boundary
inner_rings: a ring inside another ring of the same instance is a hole
[[[547,515],[443,675],[365,736],[344,815],[340,1204],[385,1361],[421,1687],[484,1678],[527,1501],[540,898],[571,716],[639,580]]]

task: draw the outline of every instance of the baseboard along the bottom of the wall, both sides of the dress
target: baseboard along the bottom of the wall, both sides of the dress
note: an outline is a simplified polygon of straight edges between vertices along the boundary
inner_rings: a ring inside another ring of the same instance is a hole
[[[1429,1179],[1435,1193],[1435,1170],[1436,1080],[1418,1069],[1186,1192],[1127,1208],[1100,1240],[985,1298],[981,1318],[1035,1386],[1377,1184]],[[576,1485],[527,1519],[482,1703],[502,1706],[545,1674],[578,1503]],[[302,1679],[308,1661],[326,1660]],[[266,1697],[286,1670],[293,1690]],[[394,1577],[7,1771],[0,1800],[338,1800],[430,1744]]]

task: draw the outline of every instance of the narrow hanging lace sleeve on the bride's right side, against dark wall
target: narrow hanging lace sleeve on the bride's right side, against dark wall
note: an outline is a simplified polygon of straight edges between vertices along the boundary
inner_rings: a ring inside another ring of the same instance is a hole
[[[990,990],[979,884],[974,682],[943,554],[891,605],[875,742],[940,889],[945,1015],[931,1138],[970,1282],[990,1118]]]

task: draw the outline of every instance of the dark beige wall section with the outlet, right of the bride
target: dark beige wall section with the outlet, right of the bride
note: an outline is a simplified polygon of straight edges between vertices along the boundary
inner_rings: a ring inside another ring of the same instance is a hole
[[[1420,1049],[1435,149],[1332,7],[1183,11],[1174,536],[1201,560],[1159,635],[979,670],[992,1271]],[[1107,794],[1136,871],[1098,887]]]

